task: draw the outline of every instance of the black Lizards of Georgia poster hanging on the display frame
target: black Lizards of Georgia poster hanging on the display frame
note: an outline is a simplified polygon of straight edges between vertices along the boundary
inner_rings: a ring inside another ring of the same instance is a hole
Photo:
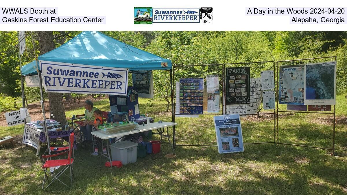
[[[226,104],[251,103],[249,67],[226,68]]]

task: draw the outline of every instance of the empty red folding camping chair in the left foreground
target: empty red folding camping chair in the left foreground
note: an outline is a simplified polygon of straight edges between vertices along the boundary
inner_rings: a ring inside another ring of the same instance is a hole
[[[61,176],[64,173],[64,171],[66,171],[67,169],[70,169],[70,187],[72,186],[72,181],[75,178],[74,172],[73,172],[73,163],[74,163],[74,156],[75,156],[75,154],[74,154],[74,140],[75,140],[75,134],[71,133],[70,137],[69,137],[68,150],[66,149],[66,147],[60,147],[60,148],[58,148],[57,151],[64,151],[64,150],[66,150],[66,151],[56,153],[56,154],[49,154],[49,155],[42,155],[41,156],[43,158],[41,168],[44,170],[44,174],[45,174],[43,176],[42,189],[44,187],[45,180],[47,179],[47,181],[49,182],[48,175],[51,175],[54,179],[49,183],[49,185],[46,188],[48,188],[55,180],[58,180],[62,184],[66,185],[64,182],[62,182],[60,179],[58,179],[58,177]],[[54,149],[54,147],[53,147],[53,149]],[[51,157],[59,156],[59,155],[65,154],[65,153],[68,154],[67,159],[58,159],[58,160],[49,159]],[[71,158],[71,156],[73,156],[73,157]],[[62,169],[57,174],[53,174],[53,172],[50,171],[50,168],[51,167],[57,167],[57,166],[61,166]],[[64,175],[66,175],[66,174],[64,173]],[[68,175],[66,175],[66,176],[68,176]],[[66,186],[69,187],[68,185],[66,185]]]

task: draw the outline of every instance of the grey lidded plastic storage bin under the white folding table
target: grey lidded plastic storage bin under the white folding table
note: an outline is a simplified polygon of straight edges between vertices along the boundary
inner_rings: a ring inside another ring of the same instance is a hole
[[[137,143],[122,141],[111,144],[112,161],[122,161],[123,165],[134,163],[137,160]]]

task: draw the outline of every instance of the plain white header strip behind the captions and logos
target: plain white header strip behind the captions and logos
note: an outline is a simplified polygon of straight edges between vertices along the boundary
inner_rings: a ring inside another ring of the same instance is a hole
[[[175,1],[1,1],[1,7],[57,7],[58,16],[106,16],[106,24],[2,24],[2,31],[344,31],[345,23],[290,24],[289,16],[246,16],[246,7],[347,7],[347,1],[321,0],[175,0]],[[134,7],[213,8],[213,24],[134,24]],[[328,15],[328,14],[323,14]],[[322,16],[323,16],[322,15]],[[346,13],[341,16],[347,16]],[[298,16],[299,17],[299,16]]]

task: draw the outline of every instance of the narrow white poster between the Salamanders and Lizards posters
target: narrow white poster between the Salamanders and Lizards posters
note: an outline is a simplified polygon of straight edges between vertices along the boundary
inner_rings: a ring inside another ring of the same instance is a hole
[[[207,87],[207,112],[219,112],[219,77],[218,75],[206,76]]]

